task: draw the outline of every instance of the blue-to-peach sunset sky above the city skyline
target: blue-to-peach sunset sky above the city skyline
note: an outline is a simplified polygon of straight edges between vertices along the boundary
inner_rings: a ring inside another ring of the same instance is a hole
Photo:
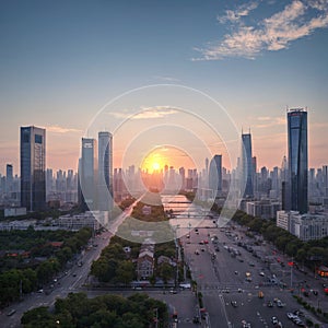
[[[233,167],[250,129],[258,167],[272,168],[294,107],[308,110],[309,167],[320,167],[327,52],[326,0],[1,0],[0,173],[20,173],[31,125],[46,128],[55,171],[75,171],[81,138],[99,130],[113,133],[115,167],[160,149],[176,150],[176,165],[219,153]]]

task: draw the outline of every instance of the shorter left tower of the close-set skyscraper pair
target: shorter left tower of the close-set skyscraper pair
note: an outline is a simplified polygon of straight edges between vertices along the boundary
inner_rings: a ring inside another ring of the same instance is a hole
[[[83,210],[96,209],[95,169],[96,140],[82,138],[81,159],[79,161],[79,194]]]

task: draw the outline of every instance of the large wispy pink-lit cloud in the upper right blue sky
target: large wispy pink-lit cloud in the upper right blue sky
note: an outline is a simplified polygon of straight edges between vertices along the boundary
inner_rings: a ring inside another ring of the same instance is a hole
[[[220,60],[226,57],[255,59],[265,50],[285,49],[292,42],[313,34],[317,28],[328,26],[327,0],[307,0],[307,2],[293,0],[282,11],[254,26],[241,24],[241,19],[255,8],[256,3],[245,8],[244,11],[241,9],[226,11],[219,22],[236,23],[237,28],[224,35],[221,42],[196,49],[201,57],[194,60]]]

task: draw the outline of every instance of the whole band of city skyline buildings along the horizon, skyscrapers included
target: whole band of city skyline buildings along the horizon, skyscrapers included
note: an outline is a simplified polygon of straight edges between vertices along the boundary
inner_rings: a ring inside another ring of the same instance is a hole
[[[0,176],[0,201],[3,216],[19,216],[63,204],[79,204],[83,212],[107,211],[115,202],[144,192],[194,191],[199,200],[239,208],[261,219],[277,218],[281,226],[301,239],[327,235],[328,165],[308,168],[307,110],[286,112],[288,155],[272,169],[257,167],[250,130],[242,131],[241,156],[231,171],[222,166],[222,155],[204,159],[202,169],[169,165],[149,173],[131,165],[113,167],[113,136],[98,132],[97,140],[82,138],[78,172],[46,168],[46,130],[21,128],[21,176],[13,175],[12,164]],[[309,211],[309,206],[320,210]],[[148,208],[143,209],[149,211]],[[86,216],[61,218],[61,225],[72,229],[92,225]],[[84,222],[84,223],[81,223]],[[71,224],[69,226],[69,224]]]

